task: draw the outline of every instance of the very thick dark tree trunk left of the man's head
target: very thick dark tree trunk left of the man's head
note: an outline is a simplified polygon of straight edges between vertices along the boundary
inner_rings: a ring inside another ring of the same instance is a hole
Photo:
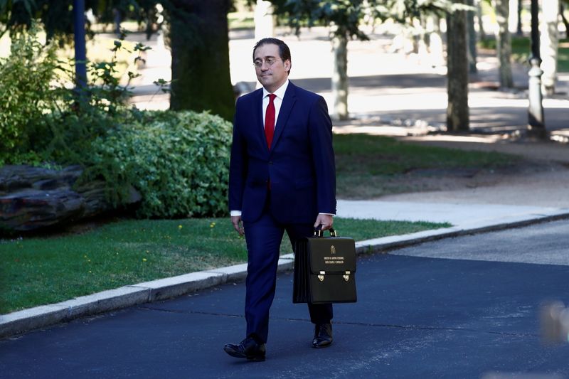
[[[211,110],[233,119],[227,14],[230,0],[171,0],[171,110]]]

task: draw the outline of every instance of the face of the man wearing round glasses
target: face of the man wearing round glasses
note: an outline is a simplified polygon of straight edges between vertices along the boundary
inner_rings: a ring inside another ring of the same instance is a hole
[[[273,61],[272,65],[269,65],[267,61]],[[257,73],[257,80],[267,91],[275,92],[287,81],[291,63],[288,59],[282,61],[277,45],[268,43],[259,46],[255,50],[253,62],[262,63],[260,67],[255,66],[255,73]]]

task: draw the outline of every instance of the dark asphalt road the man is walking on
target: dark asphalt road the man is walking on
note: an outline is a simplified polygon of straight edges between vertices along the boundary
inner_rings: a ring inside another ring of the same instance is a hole
[[[310,347],[292,275],[278,278],[267,361],[243,338],[243,283],[0,341],[1,378],[569,378],[569,345],[541,343],[546,299],[569,301],[569,220],[428,242],[358,260],[358,303]],[[522,376],[516,373],[523,373]]]

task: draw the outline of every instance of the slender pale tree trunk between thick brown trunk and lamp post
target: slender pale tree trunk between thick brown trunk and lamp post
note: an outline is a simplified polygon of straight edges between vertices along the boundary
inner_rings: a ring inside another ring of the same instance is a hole
[[[498,22],[498,33],[496,33],[496,51],[499,60],[500,87],[514,87],[514,79],[511,73],[511,36],[508,29],[508,0],[492,0],[492,5],[496,11],[496,21]]]

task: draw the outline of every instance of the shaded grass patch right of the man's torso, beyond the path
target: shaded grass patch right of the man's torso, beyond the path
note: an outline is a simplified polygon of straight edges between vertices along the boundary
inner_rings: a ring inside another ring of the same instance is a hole
[[[398,179],[416,169],[496,169],[520,160],[496,152],[420,146],[368,134],[335,134],[334,152],[338,197],[360,199],[415,190]]]

